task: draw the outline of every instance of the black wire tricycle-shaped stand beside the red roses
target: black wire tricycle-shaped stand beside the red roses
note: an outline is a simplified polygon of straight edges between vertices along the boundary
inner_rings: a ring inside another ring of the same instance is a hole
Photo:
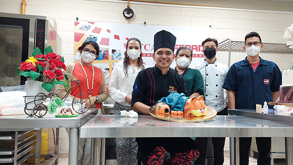
[[[89,99],[89,97],[88,97],[87,95],[82,94],[82,88],[81,88],[81,85],[80,85],[79,80],[77,80],[77,81],[70,81],[70,82],[76,82],[76,84],[73,85],[71,88],[69,88],[69,90],[67,91],[66,95],[65,95],[64,98],[63,98],[63,102],[64,102],[65,99],[68,97],[69,92],[72,90],[72,88],[73,88],[74,86],[78,85],[78,86],[79,86],[79,91],[80,91],[79,93],[80,93],[80,94],[78,94],[76,97],[74,97],[74,99],[73,99],[73,101],[72,101],[72,109],[73,109],[76,113],[78,113],[78,114],[83,114],[83,113],[86,112],[89,108],[87,108],[87,109],[82,108],[82,110],[79,111],[79,110],[74,109],[74,106],[73,106],[73,105],[79,103],[79,104],[81,104],[81,107],[83,107],[84,102],[83,102],[83,97],[82,97],[82,96],[85,96],[85,99],[84,99],[85,101],[86,101],[87,99],[89,100],[89,104],[91,104],[90,99]],[[59,97],[57,93],[52,93],[51,96]],[[47,113],[47,110],[48,110],[47,106],[44,105],[43,103],[36,103],[36,102],[37,102],[37,101],[41,101],[41,100],[42,100],[42,101],[45,101],[47,98],[50,98],[50,99],[51,99],[51,96],[50,96],[50,93],[49,93],[48,95],[45,95],[44,93],[38,93],[36,96],[23,96],[23,97],[24,97],[24,103],[25,103],[25,105],[24,105],[24,113],[25,113],[26,115],[28,115],[28,116],[34,116],[34,115],[37,116],[37,117],[43,117],[43,116],[45,116],[46,113]],[[30,102],[27,102],[27,98],[34,98],[34,100],[33,100],[33,101],[30,101]],[[76,98],[80,98],[80,101],[79,101],[79,102],[78,102],[78,101],[74,101]],[[50,101],[51,101],[51,100],[50,100]],[[27,107],[27,105],[28,105],[29,103],[34,103],[35,106],[34,106],[33,109],[29,109],[29,108]],[[29,110],[32,111],[31,114],[28,112]]]

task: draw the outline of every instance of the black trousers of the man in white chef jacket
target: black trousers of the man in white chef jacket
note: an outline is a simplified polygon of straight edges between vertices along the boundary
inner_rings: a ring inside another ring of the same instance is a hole
[[[228,115],[228,107],[225,107],[217,115]],[[224,145],[226,138],[211,138],[214,151],[214,165],[224,164]],[[195,143],[199,148],[199,157],[194,161],[194,165],[205,165],[207,155],[208,138],[195,138]]]

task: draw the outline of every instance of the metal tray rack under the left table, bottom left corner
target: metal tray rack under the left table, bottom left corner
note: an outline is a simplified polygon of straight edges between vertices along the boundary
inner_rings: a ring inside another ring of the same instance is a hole
[[[31,140],[36,134],[25,137],[31,131],[0,132],[0,165],[21,165],[35,152],[29,152],[36,146],[31,145],[36,140]]]

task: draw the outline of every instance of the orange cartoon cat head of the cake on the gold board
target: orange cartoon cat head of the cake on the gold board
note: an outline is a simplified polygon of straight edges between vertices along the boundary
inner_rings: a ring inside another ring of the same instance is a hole
[[[204,96],[192,97],[188,99],[184,106],[184,115],[190,117],[205,116],[208,112],[207,106],[204,102]]]

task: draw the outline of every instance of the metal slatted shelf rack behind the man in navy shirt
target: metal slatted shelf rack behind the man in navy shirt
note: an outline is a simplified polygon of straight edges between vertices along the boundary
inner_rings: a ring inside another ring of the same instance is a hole
[[[261,52],[267,53],[292,53],[292,49],[288,48],[285,43],[268,43],[262,42],[264,44]],[[228,66],[230,67],[231,51],[244,51],[243,50],[244,41],[232,41],[231,39],[226,39],[219,42],[218,50],[229,51],[229,61]]]

